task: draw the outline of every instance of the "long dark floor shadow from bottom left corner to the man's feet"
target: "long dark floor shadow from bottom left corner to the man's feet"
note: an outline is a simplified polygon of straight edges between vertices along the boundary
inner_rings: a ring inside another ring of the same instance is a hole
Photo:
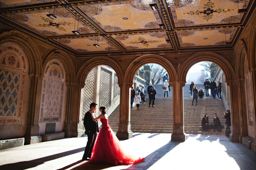
[[[65,156],[68,156],[68,155],[76,154],[78,152],[82,152],[82,151],[84,151],[84,148],[85,147],[78,148],[78,149],[75,149],[75,150],[62,152],[62,153],[59,153],[59,154],[46,156],[46,157],[31,160],[31,161],[23,161],[23,162],[5,164],[5,165],[0,166],[0,169],[15,169],[15,170],[28,169],[28,168],[36,167],[40,164],[43,164],[44,162],[47,162],[47,161],[50,161],[50,160],[53,160],[53,159],[58,159],[58,158],[65,157]]]

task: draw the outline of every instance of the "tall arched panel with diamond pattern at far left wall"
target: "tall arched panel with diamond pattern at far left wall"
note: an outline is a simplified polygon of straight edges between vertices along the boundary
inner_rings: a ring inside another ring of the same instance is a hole
[[[25,78],[23,52],[12,45],[0,47],[0,125],[21,123]]]

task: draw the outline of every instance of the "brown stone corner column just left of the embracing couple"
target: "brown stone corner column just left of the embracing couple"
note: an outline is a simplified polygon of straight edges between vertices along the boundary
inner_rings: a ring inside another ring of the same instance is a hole
[[[67,97],[66,97],[66,110],[65,110],[65,122],[64,131],[65,137],[77,137],[77,126],[79,122],[79,102],[80,92],[77,83],[66,82]]]

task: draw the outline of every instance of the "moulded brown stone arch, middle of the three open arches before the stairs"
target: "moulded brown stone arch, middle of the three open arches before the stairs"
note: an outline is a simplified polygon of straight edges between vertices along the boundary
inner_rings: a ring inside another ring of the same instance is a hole
[[[155,63],[159,64],[164,69],[166,69],[168,75],[169,75],[169,81],[176,81],[176,69],[174,68],[173,64],[168,61],[166,58],[160,55],[142,55],[140,57],[137,57],[132,63],[130,63],[127,67],[127,70],[125,72],[125,81],[126,82],[133,82],[133,78],[137,72],[137,70],[148,63]],[[131,84],[132,87],[132,84]]]

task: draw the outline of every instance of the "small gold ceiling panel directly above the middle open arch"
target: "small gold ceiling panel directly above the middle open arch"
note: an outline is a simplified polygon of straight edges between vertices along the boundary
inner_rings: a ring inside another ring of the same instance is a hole
[[[165,32],[112,35],[126,50],[172,48]]]

